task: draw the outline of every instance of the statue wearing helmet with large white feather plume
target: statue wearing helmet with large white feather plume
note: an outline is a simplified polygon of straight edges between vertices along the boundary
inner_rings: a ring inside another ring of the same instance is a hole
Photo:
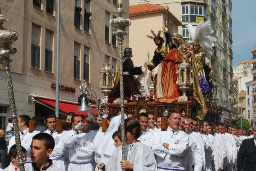
[[[204,52],[205,50],[209,50],[209,52],[213,53],[212,47],[215,46],[214,42],[217,41],[215,37],[210,35],[210,33],[214,32],[211,21],[201,21],[198,26],[188,24],[186,28],[193,41],[192,46],[198,65],[198,75],[202,75],[208,81],[209,87],[211,88],[210,76],[214,70],[212,69],[210,60],[207,58],[206,52]]]

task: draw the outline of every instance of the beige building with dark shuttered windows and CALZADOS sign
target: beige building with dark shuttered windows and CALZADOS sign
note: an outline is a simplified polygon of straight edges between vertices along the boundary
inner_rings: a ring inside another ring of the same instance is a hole
[[[117,9],[116,3],[116,0],[61,1],[60,101],[77,104],[83,79],[96,91],[98,99],[103,97],[99,89],[99,72],[105,62],[114,72],[118,65],[117,41],[112,35],[114,29],[109,25],[109,20],[116,17],[112,14]],[[12,56],[11,70],[17,114],[35,116],[41,109],[37,109],[35,101],[45,106],[49,106],[45,101],[55,101],[57,0],[4,1],[1,6],[5,17],[12,18],[3,26],[19,35],[12,45],[17,48],[17,53]],[[123,1],[123,8],[129,11],[129,1]],[[124,17],[129,18],[129,15]],[[129,45],[128,36],[125,41]],[[6,119],[10,117],[9,100],[3,67],[0,69],[0,106],[5,109],[3,117]],[[35,101],[31,101],[31,97]],[[49,112],[52,111],[44,114]],[[61,110],[62,114],[67,112]]]

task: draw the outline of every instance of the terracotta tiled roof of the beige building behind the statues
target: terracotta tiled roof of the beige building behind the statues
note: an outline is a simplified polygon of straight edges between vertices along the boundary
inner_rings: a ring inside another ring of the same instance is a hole
[[[130,14],[135,14],[138,12],[155,11],[158,9],[164,9],[164,6],[154,5],[151,3],[143,3],[139,5],[130,6]]]

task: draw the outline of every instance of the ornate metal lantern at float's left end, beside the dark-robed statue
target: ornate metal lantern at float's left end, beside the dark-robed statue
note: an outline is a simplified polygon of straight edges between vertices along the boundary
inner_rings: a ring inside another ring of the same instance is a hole
[[[105,98],[101,99],[102,103],[108,102],[109,94],[111,90],[113,90],[114,83],[113,83],[113,70],[109,67],[110,64],[103,64],[103,68],[100,70],[100,91],[104,94]]]

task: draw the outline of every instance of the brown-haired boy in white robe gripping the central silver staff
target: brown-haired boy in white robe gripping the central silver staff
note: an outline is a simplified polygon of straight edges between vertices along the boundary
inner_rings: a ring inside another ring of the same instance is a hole
[[[119,127],[119,130],[120,127]],[[122,146],[116,148],[110,157],[108,171],[157,171],[154,153],[147,145],[137,141],[140,123],[135,118],[125,119],[126,160],[122,160]]]

